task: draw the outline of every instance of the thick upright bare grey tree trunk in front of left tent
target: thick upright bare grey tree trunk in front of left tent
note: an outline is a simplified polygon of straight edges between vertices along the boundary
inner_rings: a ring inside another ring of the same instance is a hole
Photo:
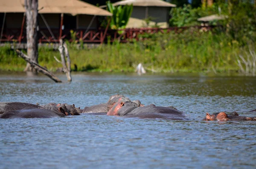
[[[35,63],[38,63],[38,0],[25,0],[26,9],[26,37],[27,37],[27,55]],[[24,71],[36,72],[30,63]]]

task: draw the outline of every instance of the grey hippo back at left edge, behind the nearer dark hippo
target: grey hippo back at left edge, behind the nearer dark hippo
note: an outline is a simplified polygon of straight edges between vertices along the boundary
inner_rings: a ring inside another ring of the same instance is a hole
[[[41,108],[39,105],[30,104],[30,103],[22,103],[22,102],[0,102],[0,114],[4,112],[8,112],[11,110],[21,110],[26,107],[35,107]]]

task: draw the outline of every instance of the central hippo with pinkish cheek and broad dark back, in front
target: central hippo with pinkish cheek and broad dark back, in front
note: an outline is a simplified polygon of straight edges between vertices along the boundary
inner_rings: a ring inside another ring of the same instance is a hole
[[[161,118],[172,120],[185,120],[186,115],[177,109],[163,106],[139,106],[126,98],[119,98],[118,102],[108,111],[107,115],[139,118]]]

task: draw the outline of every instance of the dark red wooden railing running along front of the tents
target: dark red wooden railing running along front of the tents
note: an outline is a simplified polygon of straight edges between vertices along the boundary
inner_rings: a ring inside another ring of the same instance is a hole
[[[118,40],[120,42],[128,42],[131,40],[145,40],[146,36],[141,36],[143,34],[155,34],[155,33],[169,33],[175,32],[180,33],[189,28],[194,29],[204,29],[209,30],[212,29],[213,26],[193,26],[193,27],[170,27],[170,28],[132,28],[132,29],[119,29],[117,30],[108,30],[108,32],[104,36],[105,29],[78,29],[73,30],[75,32],[75,36],[71,37],[70,29],[65,29],[62,31],[60,36],[59,29],[51,29],[49,32],[48,29],[40,29],[39,31],[39,43],[57,43],[59,39],[66,39],[72,42],[76,40],[83,41],[84,43],[103,43],[107,42],[108,38],[111,42]],[[1,28],[0,28],[1,30]],[[21,29],[4,29],[3,36],[1,42],[26,42],[26,30],[24,29],[21,33]]]

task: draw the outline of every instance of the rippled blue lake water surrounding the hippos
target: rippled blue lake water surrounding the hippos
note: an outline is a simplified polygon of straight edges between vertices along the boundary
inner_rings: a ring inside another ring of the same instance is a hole
[[[58,74],[66,81],[64,74]],[[256,78],[229,74],[72,74],[72,83],[0,72],[0,101],[84,107],[122,94],[175,106],[190,120],[80,115],[0,119],[0,168],[254,169],[256,121],[201,121],[206,112],[256,116]]]

